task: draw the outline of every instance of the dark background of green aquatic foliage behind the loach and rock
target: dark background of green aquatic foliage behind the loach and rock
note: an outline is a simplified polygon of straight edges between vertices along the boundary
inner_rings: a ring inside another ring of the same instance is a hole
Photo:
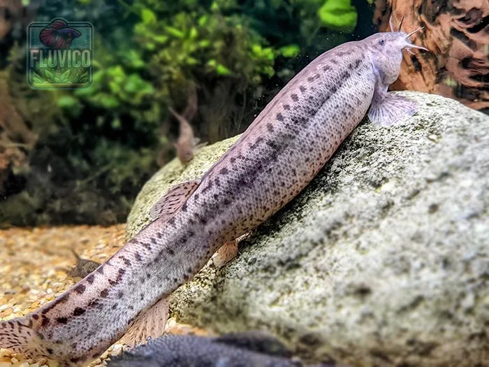
[[[372,33],[358,26],[359,9],[371,24],[366,0],[52,0],[29,6],[36,20],[92,22],[96,62],[88,89],[34,92],[20,85],[24,35],[10,34],[2,64],[15,103],[42,100],[50,111],[24,113],[38,140],[27,151],[27,166],[14,173],[22,180],[0,192],[0,222],[17,225],[124,221],[157,162],[173,157],[178,131],[168,106],[185,108],[189,82],[198,88],[196,136],[212,143],[244,131],[321,52]]]

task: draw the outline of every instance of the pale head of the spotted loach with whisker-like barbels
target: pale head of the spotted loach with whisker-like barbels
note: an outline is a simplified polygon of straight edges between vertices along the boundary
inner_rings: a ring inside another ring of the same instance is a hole
[[[402,19],[404,19],[404,17]],[[416,29],[416,31],[406,34],[401,31],[402,20],[397,31],[394,31],[393,29],[392,18],[389,23],[391,24],[390,32],[373,34],[363,40],[366,49],[365,51],[370,57],[370,60],[384,85],[390,85],[397,79],[397,76],[399,76],[402,62],[402,50],[405,49],[410,53],[412,53],[412,48],[428,51],[427,48],[414,45],[409,40],[413,34],[421,31],[423,28]]]

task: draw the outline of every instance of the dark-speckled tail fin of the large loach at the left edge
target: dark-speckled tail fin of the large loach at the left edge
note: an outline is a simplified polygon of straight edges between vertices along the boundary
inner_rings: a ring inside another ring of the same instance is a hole
[[[0,347],[24,357],[45,357],[48,350],[34,329],[32,315],[0,322]]]

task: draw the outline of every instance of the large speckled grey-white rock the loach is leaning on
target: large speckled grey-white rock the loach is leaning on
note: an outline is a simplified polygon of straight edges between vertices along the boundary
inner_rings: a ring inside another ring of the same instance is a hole
[[[489,361],[489,117],[407,93],[418,115],[366,122],[284,210],[173,294],[183,322],[268,329],[309,360],[356,366]],[[235,141],[147,182],[128,237],[174,183],[202,175]]]

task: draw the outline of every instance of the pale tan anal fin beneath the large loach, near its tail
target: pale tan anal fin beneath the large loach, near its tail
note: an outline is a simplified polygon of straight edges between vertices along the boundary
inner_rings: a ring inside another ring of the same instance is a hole
[[[134,345],[145,344],[148,337],[158,338],[162,336],[168,320],[169,308],[168,297],[161,298],[150,308],[140,313],[120,339],[120,342],[133,347]]]

